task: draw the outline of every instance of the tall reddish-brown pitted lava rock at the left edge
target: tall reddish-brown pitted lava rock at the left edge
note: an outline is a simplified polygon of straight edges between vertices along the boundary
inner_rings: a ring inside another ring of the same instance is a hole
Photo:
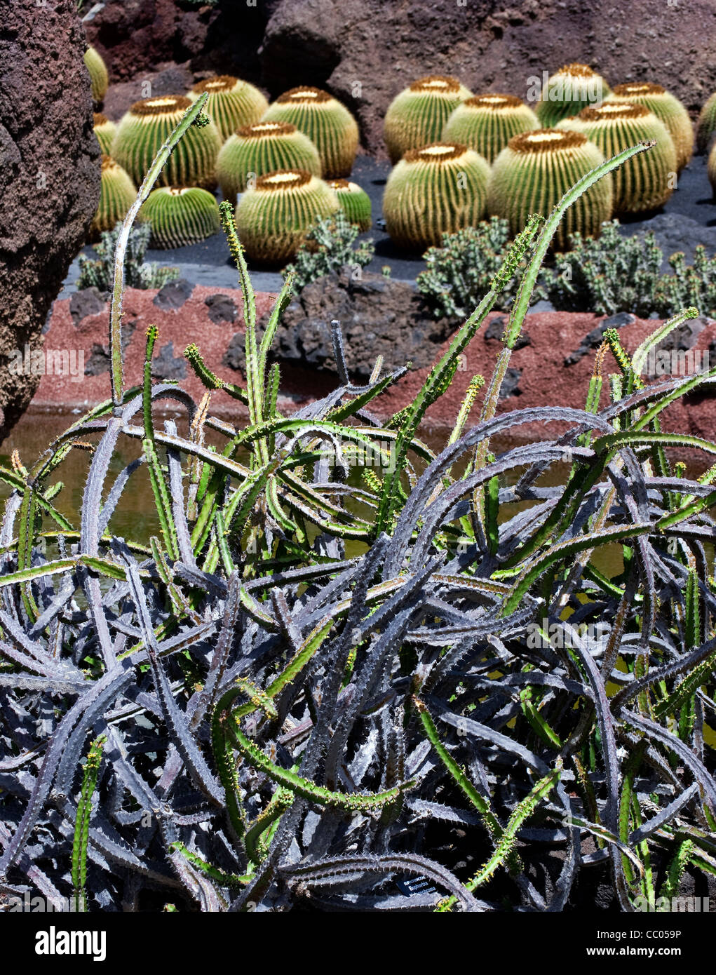
[[[0,26],[0,441],[40,376],[14,373],[39,347],[50,306],[99,200],[85,32],[75,0],[13,0]]]

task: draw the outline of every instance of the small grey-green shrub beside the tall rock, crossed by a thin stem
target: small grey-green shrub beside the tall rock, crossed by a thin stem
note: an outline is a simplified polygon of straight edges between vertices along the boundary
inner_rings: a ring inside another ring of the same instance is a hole
[[[96,260],[86,254],[80,254],[78,289],[97,288],[100,292],[112,290],[114,251],[121,226],[122,224],[118,223],[114,230],[105,230],[101,235],[99,243],[94,245],[94,252],[98,255]],[[152,228],[149,223],[140,223],[132,228],[125,264],[125,284],[128,288],[162,288],[169,281],[176,281],[179,277],[178,267],[144,263],[144,254],[149,246],[151,234]]]

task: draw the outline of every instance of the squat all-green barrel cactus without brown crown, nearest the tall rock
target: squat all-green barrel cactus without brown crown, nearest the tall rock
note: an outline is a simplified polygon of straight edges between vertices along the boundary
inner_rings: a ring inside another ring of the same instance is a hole
[[[151,246],[160,250],[196,244],[221,229],[213,194],[198,186],[153,189],[142,204],[139,218],[151,223]]]

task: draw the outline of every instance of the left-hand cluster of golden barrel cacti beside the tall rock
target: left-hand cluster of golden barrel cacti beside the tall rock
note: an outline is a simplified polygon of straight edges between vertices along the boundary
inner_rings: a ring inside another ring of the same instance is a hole
[[[90,52],[88,63],[94,64]],[[139,219],[151,223],[153,247],[181,247],[217,232],[212,193],[217,184],[237,207],[246,254],[255,260],[292,257],[316,219],[339,209],[361,230],[370,226],[367,193],[345,178],[358,151],[358,123],[348,108],[311,86],[291,89],[269,104],[253,85],[219,75],[186,95],[137,101],[116,126],[95,114],[94,134],[108,158],[93,235],[108,225],[110,214],[121,219],[127,213],[129,187],[135,194],[134,185],[202,96],[207,124],[192,126],[182,138],[141,208]]]

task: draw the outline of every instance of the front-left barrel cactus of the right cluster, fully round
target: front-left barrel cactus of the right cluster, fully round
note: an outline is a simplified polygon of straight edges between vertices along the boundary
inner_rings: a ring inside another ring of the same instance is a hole
[[[490,167],[459,142],[408,149],[388,177],[383,215],[397,247],[425,251],[485,215]]]

